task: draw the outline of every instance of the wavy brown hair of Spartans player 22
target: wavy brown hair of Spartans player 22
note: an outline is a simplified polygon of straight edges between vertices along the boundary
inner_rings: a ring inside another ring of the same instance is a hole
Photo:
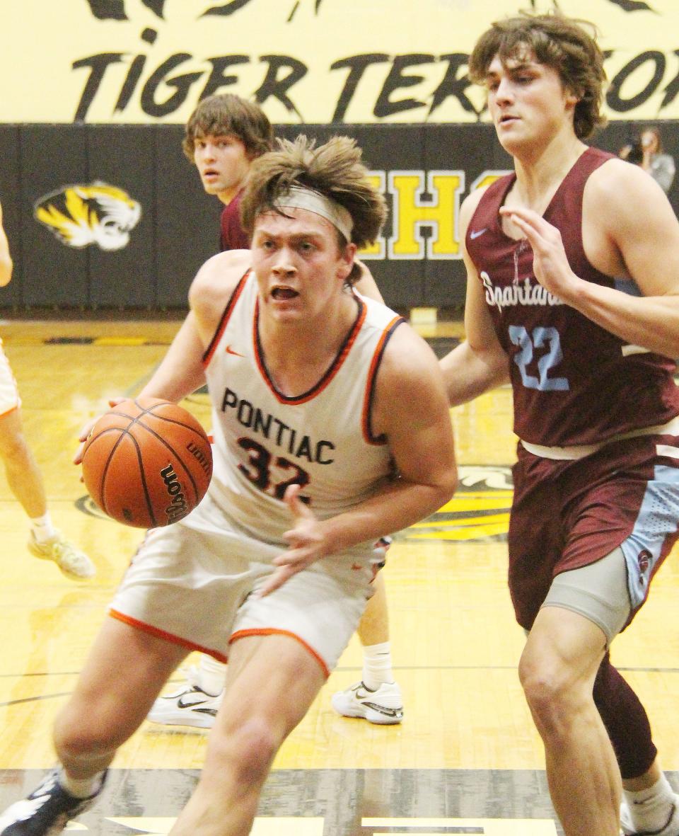
[[[586,139],[606,123],[600,113],[606,71],[595,34],[592,23],[558,12],[521,13],[495,21],[469,56],[469,78],[483,84],[496,55],[505,64],[509,59],[524,60],[526,53],[533,54],[540,64],[555,69],[564,88],[577,97],[573,126],[575,135]]]

